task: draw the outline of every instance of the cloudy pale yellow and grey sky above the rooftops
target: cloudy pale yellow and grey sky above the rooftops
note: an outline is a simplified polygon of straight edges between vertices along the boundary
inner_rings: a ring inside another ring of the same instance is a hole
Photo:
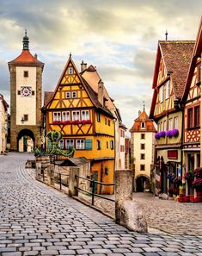
[[[43,90],[53,91],[72,54],[96,66],[127,128],[150,112],[158,40],[195,40],[201,0],[0,0],[0,93],[9,103],[8,61],[29,48],[45,63]]]

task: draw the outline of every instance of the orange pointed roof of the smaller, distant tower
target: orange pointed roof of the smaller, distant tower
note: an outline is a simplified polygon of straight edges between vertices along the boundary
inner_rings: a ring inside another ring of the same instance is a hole
[[[142,122],[145,123],[144,128],[141,125]],[[130,129],[130,132],[131,133],[135,133],[135,132],[155,133],[156,132],[156,128],[154,126],[154,123],[149,118],[149,116],[147,116],[147,113],[145,112],[145,110],[143,110],[143,112],[140,113],[138,118],[136,118],[134,120],[134,124],[133,124],[132,128]]]

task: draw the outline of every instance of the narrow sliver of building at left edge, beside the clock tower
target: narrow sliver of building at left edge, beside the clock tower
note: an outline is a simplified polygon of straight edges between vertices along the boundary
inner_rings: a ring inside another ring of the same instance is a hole
[[[0,153],[4,153],[7,149],[8,107],[8,103],[0,94]]]

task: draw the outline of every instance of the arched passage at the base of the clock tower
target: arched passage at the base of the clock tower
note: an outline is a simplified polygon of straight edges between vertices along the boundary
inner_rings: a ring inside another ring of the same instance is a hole
[[[18,152],[33,152],[35,147],[34,133],[29,129],[22,129],[17,136]]]

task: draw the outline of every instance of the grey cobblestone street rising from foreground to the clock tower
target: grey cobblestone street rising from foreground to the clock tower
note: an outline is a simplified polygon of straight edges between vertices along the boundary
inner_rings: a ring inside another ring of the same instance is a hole
[[[130,232],[35,181],[26,159],[0,156],[0,255],[202,255],[201,235]]]

